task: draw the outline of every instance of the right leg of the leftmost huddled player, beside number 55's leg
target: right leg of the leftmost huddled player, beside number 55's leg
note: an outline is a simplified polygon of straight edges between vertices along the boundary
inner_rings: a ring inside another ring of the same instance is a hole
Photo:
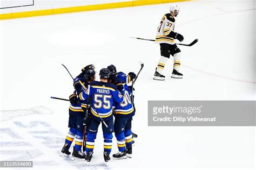
[[[81,151],[82,145],[83,145],[83,132],[84,132],[84,125],[83,125],[83,112],[79,112],[79,115],[77,116],[77,123],[76,123],[76,138],[75,138],[75,146],[73,148],[72,153],[72,160],[75,160],[76,158],[84,159],[85,155]]]

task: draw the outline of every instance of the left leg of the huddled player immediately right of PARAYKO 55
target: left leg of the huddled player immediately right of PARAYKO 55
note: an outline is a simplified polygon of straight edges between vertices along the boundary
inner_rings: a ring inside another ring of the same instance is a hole
[[[113,154],[113,158],[116,158],[116,159],[126,159],[125,136],[124,136],[125,122],[126,122],[126,118],[114,119],[114,135],[117,138],[117,147],[119,151],[118,153]]]

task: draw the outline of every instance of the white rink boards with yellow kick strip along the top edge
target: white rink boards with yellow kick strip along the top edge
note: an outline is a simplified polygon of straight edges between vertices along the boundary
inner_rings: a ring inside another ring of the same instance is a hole
[[[38,1],[38,4],[37,4]],[[103,9],[114,9],[114,8],[124,8],[140,5],[150,5],[150,4],[161,4],[161,3],[172,3],[172,2],[183,2],[190,0],[139,0],[139,1],[100,1],[97,2],[87,2],[85,5],[77,4],[66,4],[65,1],[62,4],[44,4],[39,0],[33,1],[32,5],[26,6],[1,6],[0,19],[14,19],[14,18],[24,18],[24,17],[35,17],[35,16],[45,16],[54,15],[60,13],[71,13],[71,12],[81,12],[81,11],[93,11],[93,10],[103,10]],[[106,3],[107,2],[107,3]],[[81,4],[81,3],[80,3]],[[84,4],[84,2],[82,3]],[[49,6],[50,5],[50,6]],[[65,7],[61,7],[61,6]],[[3,8],[2,8],[3,7]]]

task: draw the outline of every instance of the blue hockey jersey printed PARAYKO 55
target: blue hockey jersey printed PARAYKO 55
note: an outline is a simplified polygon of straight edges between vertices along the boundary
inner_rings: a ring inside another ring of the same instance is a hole
[[[93,81],[90,83],[89,95],[84,91],[79,94],[79,100],[86,102],[88,96],[91,97],[91,115],[93,119],[100,121],[100,115],[105,121],[113,116],[113,103],[121,103],[124,96],[118,91],[114,84]]]

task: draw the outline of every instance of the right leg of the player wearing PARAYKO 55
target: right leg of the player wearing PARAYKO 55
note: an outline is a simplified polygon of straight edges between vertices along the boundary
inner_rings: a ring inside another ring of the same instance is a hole
[[[113,122],[113,116],[108,121],[105,121],[107,126],[109,128],[106,128],[106,126],[102,123],[102,131],[103,131],[103,138],[104,138],[104,152],[103,157],[105,162],[110,160],[110,153],[112,150],[112,139],[113,139],[113,129],[114,129],[114,122]]]

